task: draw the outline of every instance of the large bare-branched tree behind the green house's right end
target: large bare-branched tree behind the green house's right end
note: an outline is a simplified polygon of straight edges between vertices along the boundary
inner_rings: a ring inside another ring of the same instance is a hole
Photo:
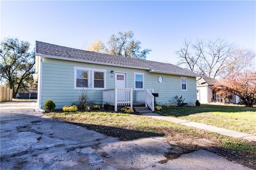
[[[240,72],[255,58],[254,51],[237,48],[234,43],[219,37],[208,41],[197,39],[195,43],[185,39],[184,47],[176,54],[180,57],[177,65],[212,78]]]

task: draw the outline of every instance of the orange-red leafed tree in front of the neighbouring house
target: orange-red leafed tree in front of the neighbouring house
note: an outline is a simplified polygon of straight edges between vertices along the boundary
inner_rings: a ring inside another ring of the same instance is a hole
[[[236,94],[246,107],[253,107],[256,103],[256,71],[232,73],[218,81],[212,89],[222,97]]]

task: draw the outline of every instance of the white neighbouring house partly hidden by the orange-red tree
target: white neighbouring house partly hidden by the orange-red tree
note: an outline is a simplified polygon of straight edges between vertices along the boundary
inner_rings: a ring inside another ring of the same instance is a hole
[[[227,98],[222,98],[219,95],[216,95],[216,92],[212,90],[212,87],[217,83],[217,79],[211,77],[202,77],[198,79],[197,86],[197,99],[200,103],[239,103],[240,99],[237,95],[230,95]]]

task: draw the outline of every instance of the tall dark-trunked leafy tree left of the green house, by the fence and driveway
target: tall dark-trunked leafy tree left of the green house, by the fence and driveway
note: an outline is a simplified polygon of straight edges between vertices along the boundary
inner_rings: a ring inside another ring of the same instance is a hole
[[[30,43],[18,38],[6,38],[0,48],[0,77],[7,87],[13,90],[13,96],[19,89],[27,89],[32,85],[34,73],[35,51],[29,52]]]

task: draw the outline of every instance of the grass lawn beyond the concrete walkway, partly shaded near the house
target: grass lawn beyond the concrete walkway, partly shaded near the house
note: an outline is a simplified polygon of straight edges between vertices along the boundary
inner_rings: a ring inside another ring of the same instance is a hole
[[[256,108],[201,105],[200,107],[163,107],[164,116],[177,117],[220,128],[256,135]]]

